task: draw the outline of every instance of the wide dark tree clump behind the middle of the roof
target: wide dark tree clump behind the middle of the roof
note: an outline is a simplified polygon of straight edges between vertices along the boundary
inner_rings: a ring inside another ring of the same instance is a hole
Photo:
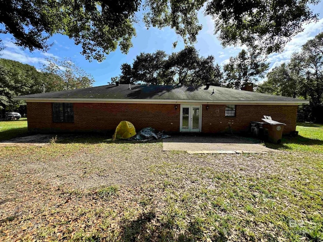
[[[112,82],[146,83],[152,85],[201,85],[210,82],[220,85],[222,72],[214,57],[198,55],[194,47],[186,47],[167,56],[164,51],[140,53],[131,67],[121,66],[122,74],[112,78]]]

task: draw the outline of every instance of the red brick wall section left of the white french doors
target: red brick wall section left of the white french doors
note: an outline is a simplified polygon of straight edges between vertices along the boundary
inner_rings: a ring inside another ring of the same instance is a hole
[[[29,130],[114,131],[122,120],[140,130],[153,127],[158,131],[178,132],[180,105],[74,103],[74,123],[53,123],[51,103],[27,103]]]

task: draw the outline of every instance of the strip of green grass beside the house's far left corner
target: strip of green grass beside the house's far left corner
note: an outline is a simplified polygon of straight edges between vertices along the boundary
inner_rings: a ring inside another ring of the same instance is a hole
[[[0,141],[10,140],[27,134],[27,118],[0,121]]]

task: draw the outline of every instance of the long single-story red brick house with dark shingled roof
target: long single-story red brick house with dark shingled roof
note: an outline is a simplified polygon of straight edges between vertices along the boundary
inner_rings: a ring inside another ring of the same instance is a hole
[[[29,131],[114,131],[120,121],[137,130],[218,133],[247,131],[263,115],[295,131],[297,105],[308,101],[215,86],[107,85],[19,96]]]

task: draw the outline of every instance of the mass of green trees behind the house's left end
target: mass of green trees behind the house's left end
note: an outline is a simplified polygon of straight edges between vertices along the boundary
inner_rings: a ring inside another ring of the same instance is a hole
[[[14,100],[15,96],[41,93],[43,87],[45,92],[53,92],[90,87],[93,82],[90,75],[67,59],[48,59],[43,72],[27,64],[0,59],[0,109],[3,115],[6,109],[18,110],[25,102]]]

